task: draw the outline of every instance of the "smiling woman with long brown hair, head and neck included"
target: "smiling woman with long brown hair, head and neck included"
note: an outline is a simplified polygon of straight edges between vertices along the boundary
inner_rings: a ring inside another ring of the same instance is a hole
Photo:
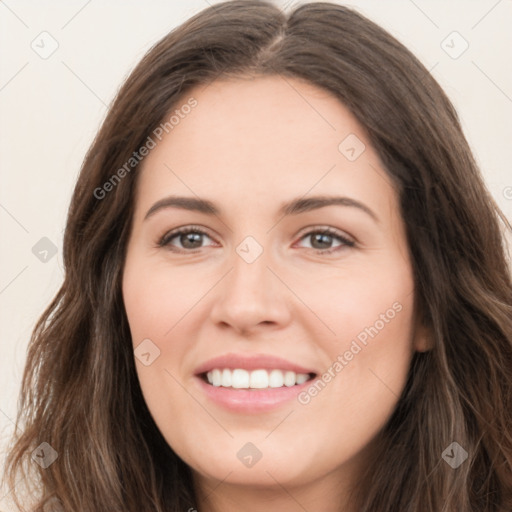
[[[205,9],[87,154],[11,486],[28,462],[37,511],[511,510],[500,222],[452,105],[381,28]]]

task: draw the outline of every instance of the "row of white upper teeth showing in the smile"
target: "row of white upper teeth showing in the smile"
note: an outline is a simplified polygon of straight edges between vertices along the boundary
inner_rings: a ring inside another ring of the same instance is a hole
[[[304,384],[309,380],[307,373],[295,373],[284,370],[230,370],[215,368],[206,374],[208,382],[213,386],[235,389],[266,389],[291,387]]]

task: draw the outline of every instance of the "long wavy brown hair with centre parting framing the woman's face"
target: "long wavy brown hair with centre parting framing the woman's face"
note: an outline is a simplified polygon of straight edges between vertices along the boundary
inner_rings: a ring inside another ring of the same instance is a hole
[[[144,402],[123,305],[137,168],[107,197],[94,192],[192,87],[261,75],[331,92],[366,128],[399,190],[433,341],[413,357],[355,509],[510,512],[512,227],[425,67],[382,28],[331,3],[289,14],[253,0],[209,7],[153,46],[119,90],[73,193],[64,282],[32,334],[6,481],[15,496],[27,488],[37,512],[197,507],[190,468]],[[442,458],[453,441],[469,455],[457,469]],[[42,442],[59,455],[46,469],[31,460]]]

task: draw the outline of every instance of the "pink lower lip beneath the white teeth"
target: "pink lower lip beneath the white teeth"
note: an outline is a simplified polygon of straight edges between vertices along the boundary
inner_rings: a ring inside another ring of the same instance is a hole
[[[216,404],[234,412],[259,413],[277,409],[311,385],[312,380],[303,384],[281,388],[233,389],[212,386],[201,377],[195,377],[201,390]]]

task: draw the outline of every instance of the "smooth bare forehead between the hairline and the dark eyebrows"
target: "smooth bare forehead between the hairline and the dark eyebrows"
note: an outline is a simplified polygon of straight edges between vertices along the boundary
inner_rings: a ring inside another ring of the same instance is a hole
[[[138,196],[146,204],[166,192],[226,200],[296,197],[312,188],[350,193],[361,181],[370,192],[391,193],[364,128],[334,95],[308,82],[218,80],[184,94],[171,116],[142,162]]]

